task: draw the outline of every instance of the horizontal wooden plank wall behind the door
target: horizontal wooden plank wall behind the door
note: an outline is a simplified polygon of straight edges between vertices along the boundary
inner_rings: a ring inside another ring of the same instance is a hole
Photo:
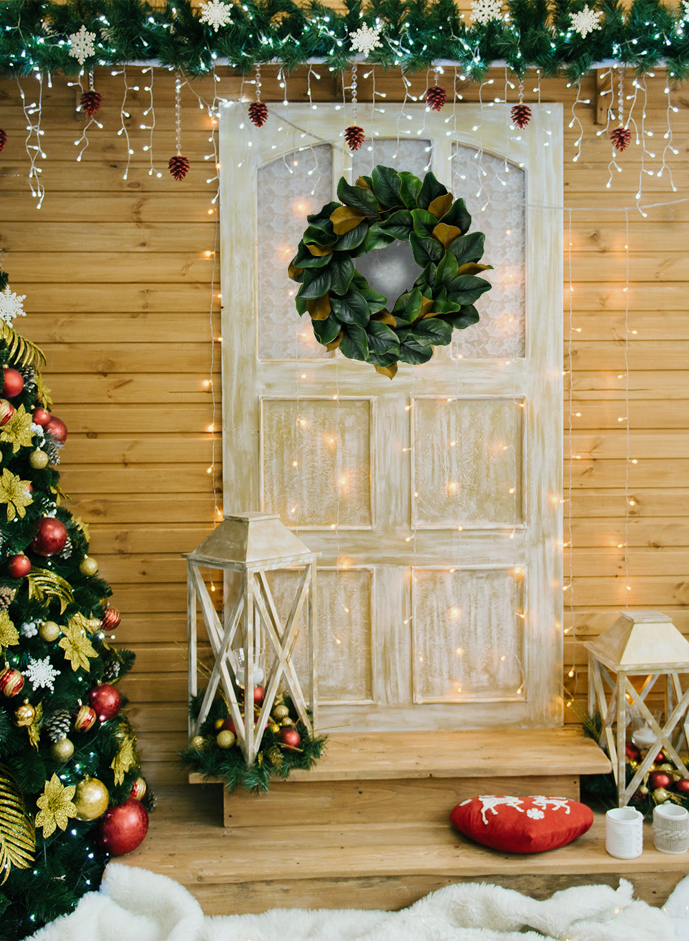
[[[220,92],[236,96],[241,81],[220,74]],[[265,101],[283,96],[272,75],[266,70]],[[47,157],[39,160],[45,186],[40,209],[29,190],[19,88],[0,83],[0,126],[9,138],[0,155],[0,248],[12,290],[26,295],[27,317],[17,326],[44,349],[54,411],[70,429],[61,482],[73,511],[90,524],[92,554],[113,585],[113,604],[122,613],[117,643],[137,656],[124,689],[155,785],[184,776],[175,759],[186,737],[180,553],[210,531],[222,500],[221,404],[216,398],[213,405],[209,385],[213,377],[219,390],[215,183],[206,182],[213,159],[204,159],[212,152],[211,119],[196,97],[210,101],[213,84],[196,81],[184,88],[182,152],[192,166],[176,183],[166,169],[175,152],[173,77],[167,72],[156,73],[153,87],[152,159],[160,178],[149,175],[150,152],[142,150],[150,132],[140,125],[151,123],[145,115],[148,77],[128,70],[129,85],[139,90],[129,92],[125,108],[133,151],[127,179],[128,142],[117,135],[123,76],[97,72],[103,126],[91,126],[78,163],[74,141],[84,125],[75,115],[79,89],[59,76],[53,88],[43,89]],[[504,72],[493,78],[484,101],[503,93]],[[418,76],[415,93],[425,82],[425,75]],[[37,80],[20,84],[26,101],[36,100]],[[313,84],[314,98],[341,100],[331,74]],[[378,76],[376,87],[387,91],[388,101],[403,97],[399,75]],[[533,87],[527,81],[530,100],[536,98]],[[645,127],[653,132],[647,141],[656,156],[647,155],[643,168],[654,172],[667,143],[664,88],[662,73],[649,80]],[[244,90],[250,99],[252,87]],[[366,91],[360,80],[361,100]],[[478,88],[462,93],[476,101]],[[303,73],[290,77],[288,94],[305,99]],[[661,609],[689,633],[689,209],[677,201],[647,210],[646,218],[634,208],[623,211],[634,207],[639,179],[642,203],[680,200],[686,191],[687,97],[681,90],[672,94],[679,108],[671,115],[679,154],[668,152],[678,187],[673,193],[667,172],[660,179],[641,172],[641,148],[634,141],[619,154],[623,170],[613,168],[606,189],[610,144],[596,136],[593,75],[580,96],[590,104],[576,108],[583,140],[581,156],[572,162],[579,128],[567,125],[575,94],[565,80],[541,84],[541,100],[565,104],[565,361],[571,372],[563,410],[564,505],[572,550],[565,550],[563,691],[571,703],[567,720],[574,722],[586,705],[583,641],[625,604]]]

